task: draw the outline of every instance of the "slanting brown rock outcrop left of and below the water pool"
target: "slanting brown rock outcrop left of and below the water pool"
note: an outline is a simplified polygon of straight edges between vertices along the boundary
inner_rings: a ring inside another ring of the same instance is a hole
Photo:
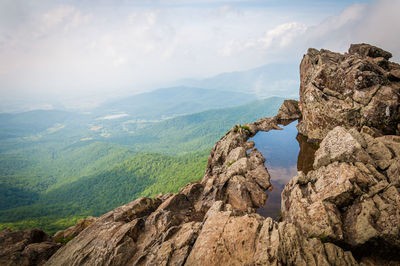
[[[255,213],[272,187],[247,140],[299,117],[297,102],[285,101],[277,116],[233,127],[212,149],[201,182],[103,215],[47,265],[356,265],[339,246]]]

